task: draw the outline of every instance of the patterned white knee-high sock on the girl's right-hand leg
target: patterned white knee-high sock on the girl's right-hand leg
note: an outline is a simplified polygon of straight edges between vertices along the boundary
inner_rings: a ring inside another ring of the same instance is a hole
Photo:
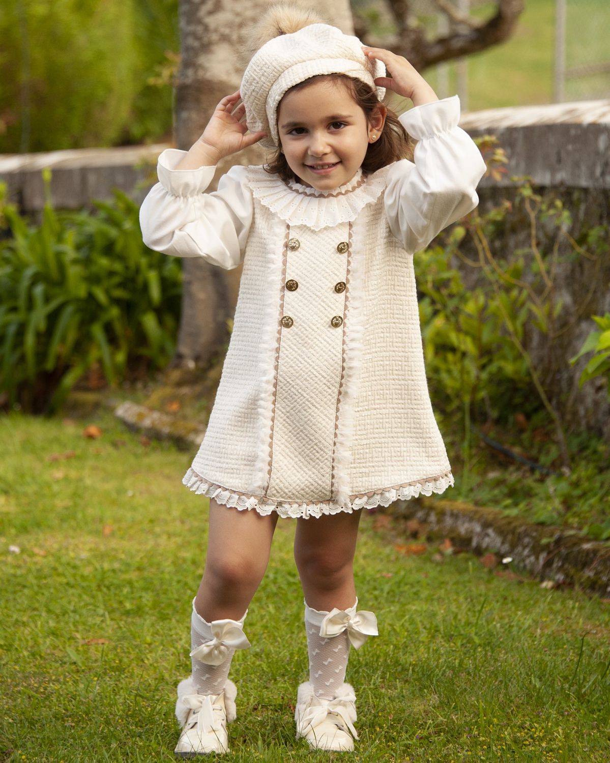
[[[347,612],[356,614],[356,604]],[[347,629],[336,636],[320,636],[320,626],[329,613],[314,610],[305,603],[305,630],[307,631],[307,651],[309,654],[309,681],[316,697],[334,700],[339,687],[344,684],[347,658],[350,654],[350,639]]]

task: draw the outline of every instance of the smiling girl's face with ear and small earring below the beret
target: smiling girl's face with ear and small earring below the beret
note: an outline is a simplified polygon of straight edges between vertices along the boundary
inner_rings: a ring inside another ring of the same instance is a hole
[[[379,112],[381,114],[381,112]],[[340,83],[322,80],[286,93],[278,109],[282,153],[304,185],[332,191],[349,182],[366,156],[383,115],[366,121],[362,108]]]

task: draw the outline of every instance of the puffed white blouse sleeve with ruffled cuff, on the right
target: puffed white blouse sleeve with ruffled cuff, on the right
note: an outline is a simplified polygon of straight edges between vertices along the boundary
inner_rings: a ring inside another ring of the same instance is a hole
[[[390,230],[413,253],[476,207],[476,185],[486,165],[472,138],[457,126],[457,95],[416,106],[399,120],[418,140],[415,163],[401,159],[390,167],[384,201]]]

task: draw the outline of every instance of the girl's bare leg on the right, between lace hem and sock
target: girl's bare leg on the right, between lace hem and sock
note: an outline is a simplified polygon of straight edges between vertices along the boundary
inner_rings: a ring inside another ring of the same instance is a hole
[[[356,601],[353,556],[361,513],[296,520],[295,562],[309,607],[347,609]]]

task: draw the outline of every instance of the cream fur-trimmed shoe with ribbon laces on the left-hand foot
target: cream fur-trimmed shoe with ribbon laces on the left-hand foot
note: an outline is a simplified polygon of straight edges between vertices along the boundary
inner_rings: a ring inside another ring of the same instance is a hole
[[[235,718],[237,689],[227,681],[219,694],[197,694],[192,678],[178,686],[176,717],[182,734],[174,750],[177,758],[195,758],[229,751],[227,723]]]

